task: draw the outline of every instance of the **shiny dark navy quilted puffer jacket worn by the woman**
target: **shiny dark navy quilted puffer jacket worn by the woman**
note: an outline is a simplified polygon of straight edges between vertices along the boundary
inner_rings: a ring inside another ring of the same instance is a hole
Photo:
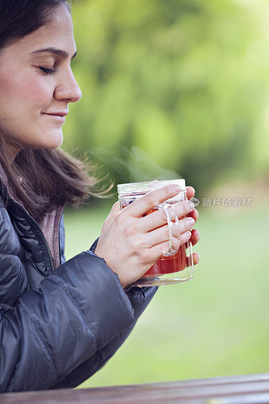
[[[95,256],[96,242],[65,262],[63,216],[59,244],[54,269],[37,223],[0,198],[1,392],[82,383],[114,355],[157,289],[125,292]]]

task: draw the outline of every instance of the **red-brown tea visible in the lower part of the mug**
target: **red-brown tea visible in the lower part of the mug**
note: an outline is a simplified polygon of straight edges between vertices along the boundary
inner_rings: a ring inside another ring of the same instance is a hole
[[[125,208],[125,206],[123,206],[123,208]],[[150,213],[155,211],[157,211],[157,209],[152,209],[143,216],[149,215]],[[186,244],[183,244],[179,247],[179,250],[174,256],[162,256],[162,258],[156,261],[155,264],[152,265],[151,268],[149,268],[149,270],[141,277],[141,279],[148,279],[160,275],[172,274],[174,272],[183,271],[186,267]]]

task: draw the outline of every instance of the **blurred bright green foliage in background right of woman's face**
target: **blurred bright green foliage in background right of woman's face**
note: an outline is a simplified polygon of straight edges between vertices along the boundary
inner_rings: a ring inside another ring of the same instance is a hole
[[[259,0],[74,5],[83,97],[64,147],[135,145],[197,189],[268,170],[268,10]]]

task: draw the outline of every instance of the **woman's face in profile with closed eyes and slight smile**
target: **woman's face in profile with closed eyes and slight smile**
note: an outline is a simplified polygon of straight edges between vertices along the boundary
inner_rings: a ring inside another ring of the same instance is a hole
[[[46,50],[44,50],[46,49]],[[81,98],[70,62],[76,53],[67,8],[0,54],[0,128],[25,148],[57,148],[68,104]],[[11,145],[14,157],[19,149]]]

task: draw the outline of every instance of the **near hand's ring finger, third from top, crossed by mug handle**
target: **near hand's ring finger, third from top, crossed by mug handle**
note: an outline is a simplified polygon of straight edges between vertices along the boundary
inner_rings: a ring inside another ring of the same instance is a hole
[[[190,230],[192,226],[194,226],[194,223],[194,220],[191,218],[179,220],[179,226],[177,226],[176,223],[173,223],[172,235],[176,238],[179,238],[179,235]],[[170,233],[168,225],[162,226],[146,233],[145,246],[152,247],[153,245],[169,240],[169,238]]]

